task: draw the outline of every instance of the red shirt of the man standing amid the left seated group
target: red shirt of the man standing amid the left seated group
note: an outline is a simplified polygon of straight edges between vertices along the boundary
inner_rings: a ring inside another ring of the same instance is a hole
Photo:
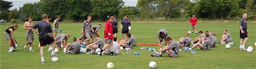
[[[109,36],[108,36],[108,33],[110,33]],[[104,28],[104,39],[113,39],[113,29],[112,29],[112,23],[110,21],[106,21],[105,28]]]

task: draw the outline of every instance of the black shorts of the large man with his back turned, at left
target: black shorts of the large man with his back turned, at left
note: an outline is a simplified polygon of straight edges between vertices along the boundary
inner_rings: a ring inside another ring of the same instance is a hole
[[[54,42],[54,38],[52,38],[50,36],[40,35],[39,42],[40,42],[41,47],[43,47],[47,44],[51,44],[52,42]]]

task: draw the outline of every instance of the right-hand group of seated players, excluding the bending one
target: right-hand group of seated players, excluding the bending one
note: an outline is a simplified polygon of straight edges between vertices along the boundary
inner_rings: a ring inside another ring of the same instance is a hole
[[[222,39],[219,40],[219,43],[227,44],[232,42],[232,37],[229,33],[227,33],[227,30],[223,30]],[[167,52],[168,56],[170,57],[177,57],[180,49],[182,48],[186,51],[191,51],[191,54],[197,54],[196,51],[194,51],[194,48],[199,47],[200,49],[207,51],[211,49],[212,47],[215,47],[216,45],[216,37],[215,32],[208,32],[208,30],[205,31],[205,34],[202,33],[202,31],[199,32],[200,36],[195,37],[194,41],[191,41],[190,34],[186,33],[186,37],[181,37],[179,41],[172,40],[170,37],[166,38],[166,42],[168,45],[166,45],[162,49],[158,49],[155,51],[155,54],[151,54],[152,57],[160,57],[163,53]],[[190,48],[190,45],[193,45],[193,47]]]

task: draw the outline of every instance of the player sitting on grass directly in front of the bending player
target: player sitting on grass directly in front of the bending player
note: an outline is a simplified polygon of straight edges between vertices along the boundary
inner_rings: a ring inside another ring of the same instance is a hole
[[[168,43],[168,45],[166,45],[162,49],[158,49],[157,50],[158,52],[155,51],[155,54],[151,54],[151,56],[159,57],[159,56],[162,56],[162,53],[167,52],[169,57],[177,57],[179,54],[179,44],[177,43],[177,41],[172,40],[172,38],[170,37],[167,37],[166,42]]]

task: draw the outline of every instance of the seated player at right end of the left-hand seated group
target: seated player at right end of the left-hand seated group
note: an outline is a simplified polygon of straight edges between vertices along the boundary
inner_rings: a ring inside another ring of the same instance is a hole
[[[125,48],[125,50],[130,50],[131,47],[134,45],[135,38],[131,37],[131,33],[127,33],[126,37],[126,40],[121,40],[119,42],[119,46],[122,46],[123,48]]]

